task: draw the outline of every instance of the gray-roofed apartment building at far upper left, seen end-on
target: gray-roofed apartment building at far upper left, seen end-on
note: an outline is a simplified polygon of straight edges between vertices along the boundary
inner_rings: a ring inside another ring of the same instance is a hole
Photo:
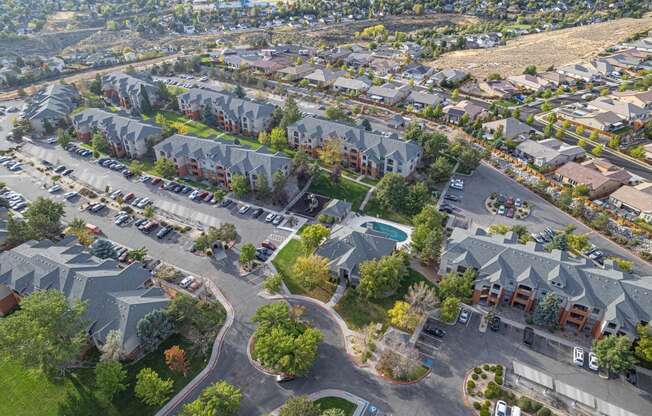
[[[68,115],[81,102],[73,85],[52,84],[34,94],[21,117],[29,121],[35,133],[51,134],[68,123]]]

